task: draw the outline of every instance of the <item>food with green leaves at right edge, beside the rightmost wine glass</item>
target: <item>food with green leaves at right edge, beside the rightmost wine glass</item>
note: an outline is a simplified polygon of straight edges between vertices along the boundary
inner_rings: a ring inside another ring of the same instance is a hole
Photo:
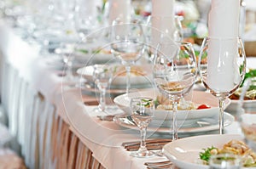
[[[244,78],[244,81],[249,78],[249,77],[256,77],[256,70],[249,70],[246,75],[245,75],[245,78]],[[242,90],[242,85],[243,83],[241,84],[241,87],[239,87],[235,93],[233,93],[231,96],[230,96],[230,99],[239,99],[240,98],[240,95],[241,95],[241,90]],[[252,99],[256,99],[256,84],[252,84],[249,89],[247,90],[247,93],[245,94],[244,96],[244,99],[246,100],[252,100]]]

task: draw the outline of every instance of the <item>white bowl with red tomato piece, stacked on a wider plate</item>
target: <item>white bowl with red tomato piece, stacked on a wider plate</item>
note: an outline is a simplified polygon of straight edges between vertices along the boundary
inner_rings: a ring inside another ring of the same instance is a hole
[[[136,93],[130,93],[129,99],[126,99],[126,95],[122,94],[113,99],[113,102],[119,106],[120,109],[125,112],[129,112],[129,102],[131,98],[138,96],[144,96],[149,98],[156,98],[159,93],[157,89],[148,91],[137,91]],[[218,99],[214,97],[211,93],[206,93],[202,91],[193,91],[192,94],[186,97],[188,100],[192,100],[195,104],[208,104],[211,106],[210,109],[202,110],[178,110],[177,111],[177,121],[188,121],[206,117],[212,117],[213,115],[218,115]],[[226,99],[224,103],[224,109],[230,104],[230,99]],[[172,119],[172,110],[154,110],[154,120],[170,120]]]

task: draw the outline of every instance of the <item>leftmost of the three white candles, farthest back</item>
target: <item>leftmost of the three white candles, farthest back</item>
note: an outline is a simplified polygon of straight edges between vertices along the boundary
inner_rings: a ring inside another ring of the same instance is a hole
[[[109,25],[112,25],[113,20],[117,18],[123,21],[131,19],[131,11],[131,0],[110,0],[108,16]]]

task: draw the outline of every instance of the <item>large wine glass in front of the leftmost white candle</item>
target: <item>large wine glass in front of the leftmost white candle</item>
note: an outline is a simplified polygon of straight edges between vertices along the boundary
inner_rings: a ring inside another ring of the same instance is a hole
[[[131,87],[131,65],[140,59],[144,53],[145,37],[139,20],[127,22],[116,19],[111,27],[111,52],[121,60],[126,70],[126,96]],[[126,97],[128,99],[128,97]]]

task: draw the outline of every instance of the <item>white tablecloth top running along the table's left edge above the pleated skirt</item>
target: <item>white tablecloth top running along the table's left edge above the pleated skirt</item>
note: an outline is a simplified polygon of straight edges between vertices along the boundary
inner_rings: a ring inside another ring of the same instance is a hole
[[[103,166],[111,169],[146,168],[145,161],[160,161],[164,157],[137,159],[130,156],[120,145],[125,141],[138,140],[138,131],[119,127],[113,121],[100,121],[93,112],[95,107],[85,106],[85,97],[79,88],[69,86],[58,76],[60,68],[53,66],[55,57],[39,55],[37,45],[29,45],[15,35],[4,21],[0,21],[0,50],[9,64],[19,70],[18,74],[32,85],[45,99],[55,104],[61,118],[70,129],[93,152]],[[3,91],[2,91],[3,92]],[[116,113],[116,112],[113,112]],[[226,127],[226,133],[240,133],[234,122]],[[170,136],[171,137],[171,136]]]

